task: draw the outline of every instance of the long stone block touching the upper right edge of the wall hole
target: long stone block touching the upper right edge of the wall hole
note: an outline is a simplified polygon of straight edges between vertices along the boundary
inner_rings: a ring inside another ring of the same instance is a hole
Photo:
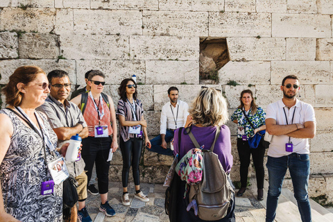
[[[280,37],[228,37],[230,60],[285,60],[286,40]]]

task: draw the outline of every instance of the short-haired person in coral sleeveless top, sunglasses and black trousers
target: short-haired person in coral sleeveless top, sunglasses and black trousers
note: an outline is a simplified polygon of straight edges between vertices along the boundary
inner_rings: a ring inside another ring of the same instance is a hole
[[[82,141],[82,157],[85,160],[88,184],[92,178],[92,169],[96,165],[99,178],[101,205],[99,210],[106,216],[114,216],[113,208],[108,204],[110,149],[114,153],[118,148],[117,120],[114,103],[110,96],[103,94],[105,75],[99,70],[92,70],[88,75],[90,91],[76,96],[71,102],[78,105],[88,125],[88,137]],[[112,123],[112,124],[111,124]],[[111,138],[112,135],[112,138]]]

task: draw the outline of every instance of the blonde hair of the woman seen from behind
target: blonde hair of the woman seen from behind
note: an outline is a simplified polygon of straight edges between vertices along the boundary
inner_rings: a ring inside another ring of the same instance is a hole
[[[213,88],[204,88],[192,101],[189,114],[196,124],[221,126],[228,121],[227,102],[221,92]]]

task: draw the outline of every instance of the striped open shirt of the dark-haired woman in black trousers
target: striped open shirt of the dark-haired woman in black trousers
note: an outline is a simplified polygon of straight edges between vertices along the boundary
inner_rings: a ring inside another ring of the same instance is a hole
[[[140,121],[144,114],[144,108],[142,108],[142,101],[139,101],[139,99],[135,101],[135,113],[137,121]],[[128,101],[124,102],[122,99],[118,101],[117,115],[125,117],[125,121],[134,121],[132,108],[130,108]],[[119,131],[119,135],[123,138],[124,142],[128,141],[130,137],[134,137],[134,134],[128,133],[128,126],[121,126],[119,124]]]

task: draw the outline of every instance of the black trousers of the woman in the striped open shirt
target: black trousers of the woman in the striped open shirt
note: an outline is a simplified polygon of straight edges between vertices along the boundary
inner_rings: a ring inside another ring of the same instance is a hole
[[[121,173],[123,187],[128,186],[128,174],[130,173],[131,162],[134,184],[140,185],[139,162],[142,152],[142,138],[130,138],[128,141],[123,142],[123,138],[120,137],[120,149],[123,156],[123,171]]]

